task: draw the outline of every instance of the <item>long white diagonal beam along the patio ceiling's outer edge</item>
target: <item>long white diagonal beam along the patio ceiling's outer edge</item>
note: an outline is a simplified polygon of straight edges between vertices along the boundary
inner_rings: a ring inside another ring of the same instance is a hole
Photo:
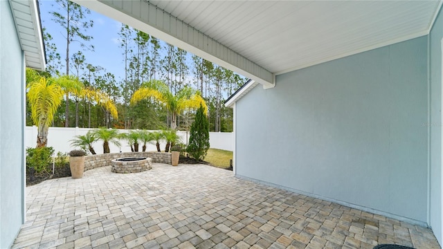
[[[73,0],[84,7],[178,46],[219,66],[275,86],[275,75],[145,0]]]

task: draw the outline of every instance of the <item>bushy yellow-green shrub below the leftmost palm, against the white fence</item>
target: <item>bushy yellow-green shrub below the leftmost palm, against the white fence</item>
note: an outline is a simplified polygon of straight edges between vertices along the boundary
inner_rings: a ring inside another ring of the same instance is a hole
[[[39,147],[26,149],[26,167],[34,168],[35,173],[48,172],[48,165],[52,163],[53,147]]]

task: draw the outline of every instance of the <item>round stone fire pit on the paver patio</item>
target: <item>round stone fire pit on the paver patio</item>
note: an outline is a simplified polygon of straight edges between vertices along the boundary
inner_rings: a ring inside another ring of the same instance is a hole
[[[144,157],[126,157],[111,160],[114,173],[137,173],[151,169],[152,159]]]

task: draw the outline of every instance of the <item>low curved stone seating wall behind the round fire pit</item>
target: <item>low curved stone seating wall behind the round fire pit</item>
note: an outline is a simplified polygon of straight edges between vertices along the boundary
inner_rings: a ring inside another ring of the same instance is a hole
[[[98,154],[84,157],[84,171],[98,167],[111,166],[111,160],[123,157],[147,157],[152,159],[152,163],[171,164],[171,154],[157,151],[145,152],[123,152]]]

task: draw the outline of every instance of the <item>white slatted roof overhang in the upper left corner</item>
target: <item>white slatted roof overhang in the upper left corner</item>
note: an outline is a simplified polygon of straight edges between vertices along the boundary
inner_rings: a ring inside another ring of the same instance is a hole
[[[26,66],[45,71],[46,57],[37,1],[9,0],[9,4]]]

